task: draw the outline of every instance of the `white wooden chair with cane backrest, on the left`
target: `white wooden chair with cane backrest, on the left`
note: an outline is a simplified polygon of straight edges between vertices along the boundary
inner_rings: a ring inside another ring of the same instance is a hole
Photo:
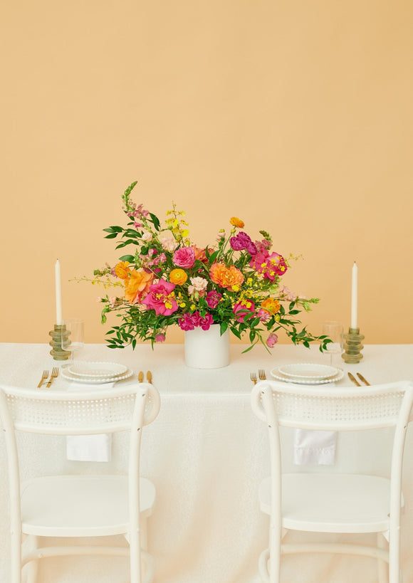
[[[159,393],[147,383],[88,392],[0,386],[0,425],[9,470],[10,583],[21,583],[22,568],[28,563],[28,582],[35,583],[38,560],[59,555],[128,556],[130,582],[152,581],[152,557],[142,547],[146,545],[146,522],[155,502],[155,486],[140,478],[140,442],[142,427],[155,419],[159,409]],[[128,473],[43,476],[21,483],[16,431],[49,435],[130,431]],[[129,545],[38,545],[39,537],[108,535],[124,535]],[[21,545],[26,537],[29,551],[23,554]]]

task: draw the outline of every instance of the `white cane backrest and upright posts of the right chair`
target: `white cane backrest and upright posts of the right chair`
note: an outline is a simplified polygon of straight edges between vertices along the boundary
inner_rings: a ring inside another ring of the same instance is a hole
[[[390,530],[397,530],[402,495],[402,466],[407,426],[411,420],[413,383],[370,387],[308,387],[271,380],[258,382],[251,406],[268,426],[271,462],[271,513],[281,513],[281,446],[279,426],[330,431],[394,427],[390,473]]]

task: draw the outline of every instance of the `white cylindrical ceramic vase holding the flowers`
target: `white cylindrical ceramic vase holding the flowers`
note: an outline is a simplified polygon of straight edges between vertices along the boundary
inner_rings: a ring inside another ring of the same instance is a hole
[[[229,365],[229,331],[221,336],[219,324],[185,332],[185,364],[192,369],[219,369]]]

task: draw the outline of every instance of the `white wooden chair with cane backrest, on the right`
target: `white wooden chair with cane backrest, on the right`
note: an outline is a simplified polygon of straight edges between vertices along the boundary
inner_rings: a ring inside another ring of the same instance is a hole
[[[380,583],[401,582],[402,464],[412,402],[411,382],[360,389],[298,387],[273,381],[256,384],[251,405],[258,418],[268,425],[271,458],[271,476],[263,480],[258,491],[261,510],[270,516],[269,546],[258,562],[263,582],[279,583],[281,555],[298,552],[375,557]],[[280,426],[326,431],[394,427],[390,478],[334,471],[283,474]],[[283,544],[288,530],[376,533],[377,545]]]

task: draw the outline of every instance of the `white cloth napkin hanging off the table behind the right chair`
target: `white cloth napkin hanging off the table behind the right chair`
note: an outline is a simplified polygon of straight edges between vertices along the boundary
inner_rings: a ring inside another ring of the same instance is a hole
[[[329,386],[335,387],[335,383],[330,383]],[[296,466],[305,464],[333,466],[336,441],[337,431],[294,429],[294,463]]]

